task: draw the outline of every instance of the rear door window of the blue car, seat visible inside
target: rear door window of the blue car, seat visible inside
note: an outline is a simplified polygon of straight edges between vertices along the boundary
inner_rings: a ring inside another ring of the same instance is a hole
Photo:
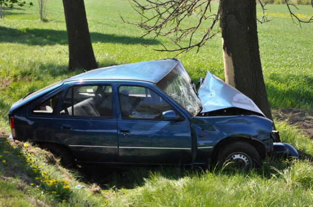
[[[60,115],[113,118],[111,86],[73,86],[67,91]]]

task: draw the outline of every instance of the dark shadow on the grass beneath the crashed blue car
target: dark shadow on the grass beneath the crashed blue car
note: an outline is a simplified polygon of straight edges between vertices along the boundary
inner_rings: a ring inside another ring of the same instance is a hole
[[[260,168],[247,171],[220,169],[216,166],[209,168],[184,167],[184,166],[132,166],[128,168],[105,168],[88,167],[80,168],[79,176],[81,182],[96,183],[103,189],[134,189],[142,187],[147,180],[155,180],[160,177],[168,180],[180,180],[184,177],[205,177],[207,174],[213,176],[231,175],[256,175],[264,179],[269,179],[277,170],[287,169],[291,162],[286,162],[284,157],[267,157]]]

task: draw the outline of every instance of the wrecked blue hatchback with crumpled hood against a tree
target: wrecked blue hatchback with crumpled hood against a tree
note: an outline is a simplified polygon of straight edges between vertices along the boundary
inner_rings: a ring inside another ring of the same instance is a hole
[[[253,101],[207,73],[197,90],[178,59],[95,69],[25,95],[12,136],[65,165],[210,165],[249,169],[295,149]]]

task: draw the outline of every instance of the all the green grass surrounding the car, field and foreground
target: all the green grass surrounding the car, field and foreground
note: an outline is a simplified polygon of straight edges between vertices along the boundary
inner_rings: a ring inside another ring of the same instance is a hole
[[[47,22],[39,20],[34,3],[33,7],[6,8],[4,20],[0,20],[0,130],[7,133],[7,113],[15,101],[29,91],[81,73],[66,70],[62,0],[47,1]],[[161,42],[170,47],[168,38],[159,38],[149,47],[141,45],[152,37],[140,38],[143,32],[119,17],[120,13],[129,21],[139,20],[128,0],[85,0],[85,6],[99,67],[175,56],[153,50],[160,48]],[[217,7],[213,4],[212,11]],[[303,19],[313,15],[310,6],[298,8],[295,13]],[[260,17],[259,7],[257,12]],[[266,12],[273,20],[258,24],[258,38],[271,107],[312,110],[313,24],[302,23],[302,28],[294,24],[285,5],[267,5]],[[224,79],[221,35],[199,53],[191,51],[179,58],[194,81],[207,70]],[[283,141],[313,155],[313,141],[307,136],[287,122],[276,120],[276,127]],[[45,151],[6,141],[0,140],[0,206],[313,206],[313,165],[306,161],[268,158],[261,169],[248,173],[137,167],[115,172],[110,181],[104,180],[108,173],[99,169],[86,181],[81,177],[84,174],[52,165]],[[47,185],[36,179],[39,177],[49,180]],[[71,190],[50,182],[57,179],[69,182]],[[93,182],[102,190],[92,186]]]

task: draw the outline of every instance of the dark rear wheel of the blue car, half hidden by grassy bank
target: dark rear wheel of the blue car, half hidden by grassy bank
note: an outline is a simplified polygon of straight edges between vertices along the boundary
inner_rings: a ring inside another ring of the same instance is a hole
[[[61,165],[65,168],[74,168],[75,159],[71,151],[69,151],[66,147],[59,145],[49,145],[43,144],[41,145],[42,149],[47,149],[50,151],[55,159],[60,159]]]

